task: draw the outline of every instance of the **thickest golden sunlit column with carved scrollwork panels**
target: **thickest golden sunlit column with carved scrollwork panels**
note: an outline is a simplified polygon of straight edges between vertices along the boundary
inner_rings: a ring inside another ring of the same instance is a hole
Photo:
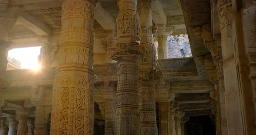
[[[93,135],[94,0],[63,0],[51,135]]]

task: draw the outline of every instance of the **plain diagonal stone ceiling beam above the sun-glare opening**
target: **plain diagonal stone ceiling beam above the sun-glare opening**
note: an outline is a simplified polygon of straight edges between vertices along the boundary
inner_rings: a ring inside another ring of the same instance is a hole
[[[27,11],[22,11],[16,24],[23,24],[38,35],[51,35],[52,28]]]

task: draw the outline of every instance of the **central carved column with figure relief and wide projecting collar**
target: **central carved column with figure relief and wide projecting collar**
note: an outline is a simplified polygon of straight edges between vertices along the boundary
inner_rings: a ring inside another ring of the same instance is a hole
[[[118,62],[116,135],[139,135],[138,61],[144,47],[138,42],[137,0],[118,0],[118,6],[116,48],[109,48]]]

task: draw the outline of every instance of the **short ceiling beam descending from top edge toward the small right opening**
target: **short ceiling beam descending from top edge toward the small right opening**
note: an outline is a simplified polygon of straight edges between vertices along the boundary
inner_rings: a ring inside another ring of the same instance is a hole
[[[152,5],[152,16],[154,23],[156,25],[166,25],[167,17],[166,14],[164,13],[164,9],[160,0],[153,0]]]

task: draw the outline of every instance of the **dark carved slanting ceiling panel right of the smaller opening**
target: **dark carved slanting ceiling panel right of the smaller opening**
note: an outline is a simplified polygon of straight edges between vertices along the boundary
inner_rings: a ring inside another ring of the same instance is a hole
[[[181,6],[193,56],[208,53],[203,38],[197,35],[194,28],[211,22],[210,0],[182,0]]]

